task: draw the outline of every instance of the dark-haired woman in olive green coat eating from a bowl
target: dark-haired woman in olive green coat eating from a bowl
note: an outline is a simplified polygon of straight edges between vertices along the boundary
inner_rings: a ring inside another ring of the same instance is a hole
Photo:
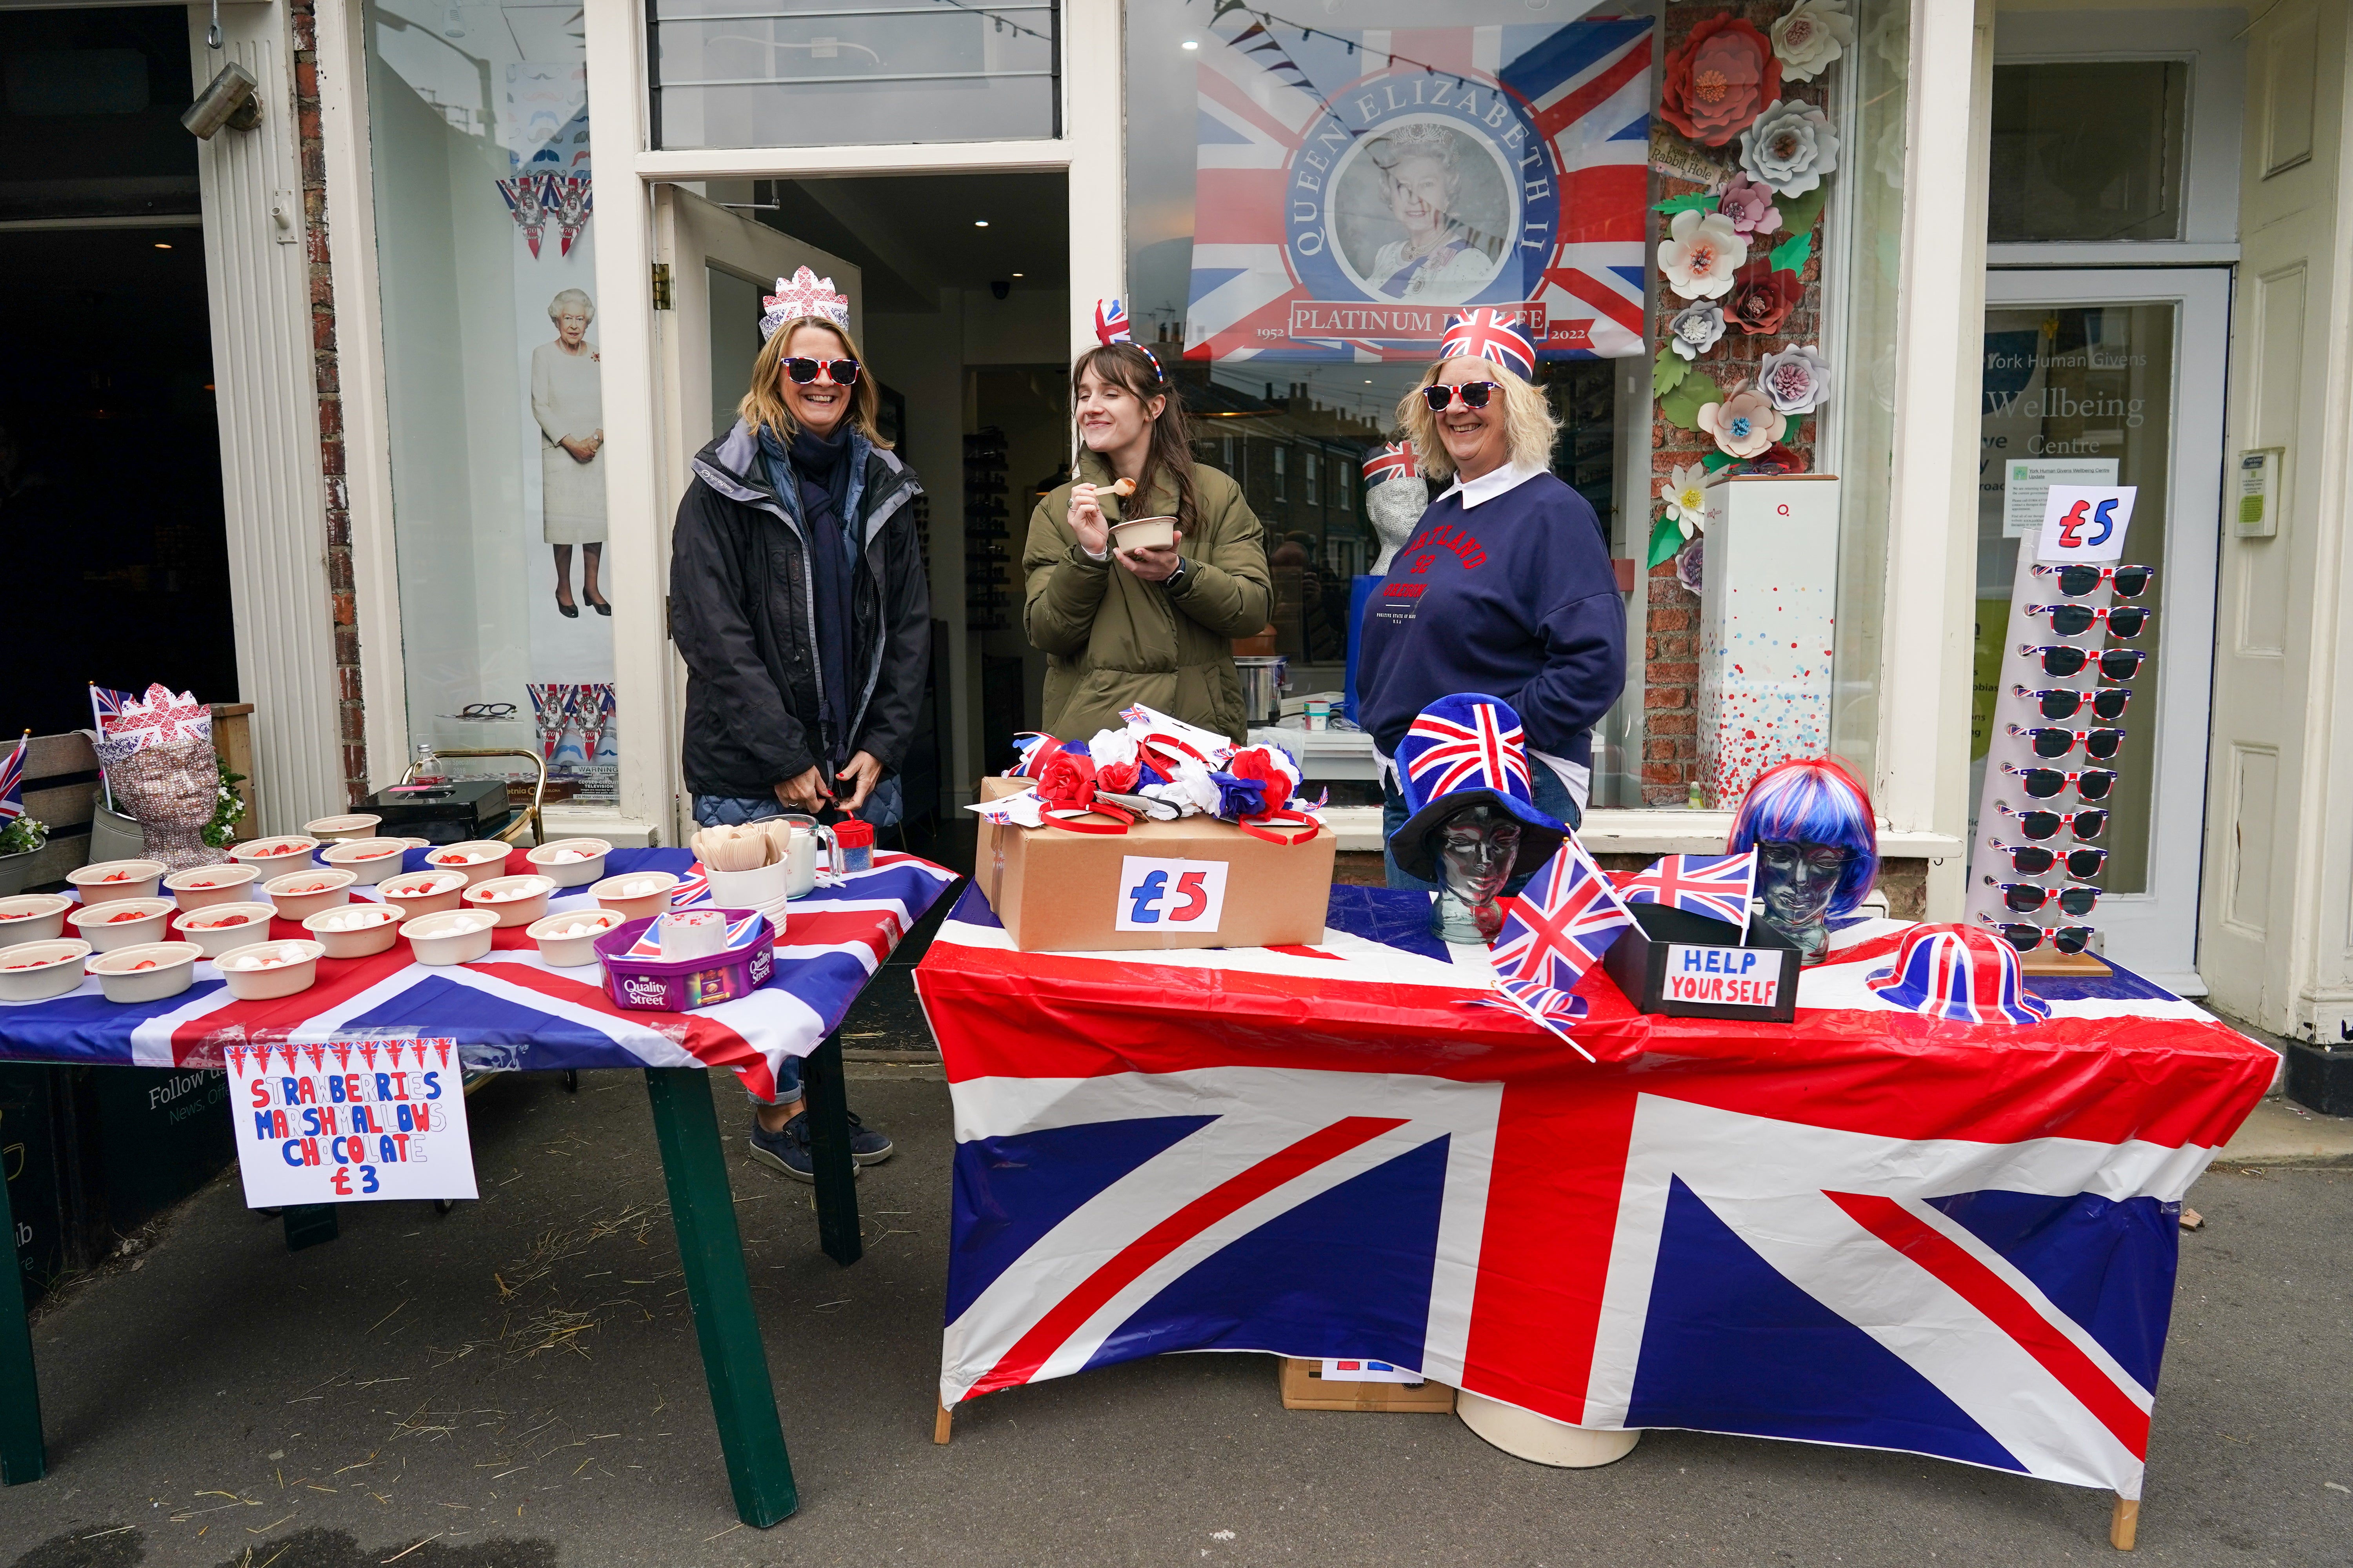
[[[1071,407],[1078,473],[1038,503],[1021,550],[1021,618],[1049,656],[1045,731],[1085,741],[1144,703],[1245,741],[1233,639],[1266,630],[1273,585],[1242,487],[1193,463],[1176,390],[1125,339],[1080,355]],[[1125,501],[1118,480],[1134,480]],[[1113,550],[1122,517],[1174,517],[1176,543]]]

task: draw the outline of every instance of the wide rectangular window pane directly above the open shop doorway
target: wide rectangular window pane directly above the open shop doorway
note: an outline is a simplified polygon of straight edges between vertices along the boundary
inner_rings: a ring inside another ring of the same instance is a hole
[[[656,148],[1061,134],[1056,0],[654,0]]]

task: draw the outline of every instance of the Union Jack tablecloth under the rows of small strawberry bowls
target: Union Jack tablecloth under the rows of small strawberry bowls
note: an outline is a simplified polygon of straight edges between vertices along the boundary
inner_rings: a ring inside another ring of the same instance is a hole
[[[412,849],[405,870],[426,870]],[[529,872],[522,851],[508,875]],[[685,849],[616,849],[607,875],[673,872],[678,903],[708,903]],[[614,1006],[602,966],[551,969],[520,926],[492,931],[473,964],[426,966],[407,943],[367,959],[320,959],[318,983],[280,1001],[238,1001],[219,971],[198,961],[195,985],[165,1001],[115,1004],[96,978],[52,1001],[0,1004],[0,1060],[113,1063],[120,1067],[219,1067],[231,1044],[320,1044],[336,1037],[442,1037],[468,1067],[734,1067],[755,1093],[807,1056],[842,1020],[866,978],[906,929],[955,882],[915,856],[878,853],[868,872],[819,886],[788,905],[767,985],[694,1013]],[[353,898],[379,898],[355,886]],[[588,889],[558,889],[551,912],[588,910]],[[306,938],[273,919],[271,938]],[[254,938],[261,940],[261,938]]]

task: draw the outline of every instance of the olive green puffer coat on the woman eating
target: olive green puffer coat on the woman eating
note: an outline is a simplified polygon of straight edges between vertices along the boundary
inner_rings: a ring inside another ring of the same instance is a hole
[[[1073,484],[1111,484],[1111,468],[1080,454]],[[1259,520],[1242,487],[1214,468],[1193,468],[1200,515],[1176,550],[1184,581],[1169,590],[1146,583],[1118,559],[1092,559],[1071,531],[1071,487],[1064,484],[1031,515],[1021,550],[1021,621],[1033,646],[1049,656],[1045,731],[1087,741],[1099,729],[1122,729],[1132,703],[1172,719],[1245,741],[1242,682],[1233,672],[1233,639],[1266,630],[1273,583]],[[1151,496],[1132,496],[1127,517],[1172,517],[1176,487],[1165,475]],[[1104,496],[1104,517],[1122,517]]]

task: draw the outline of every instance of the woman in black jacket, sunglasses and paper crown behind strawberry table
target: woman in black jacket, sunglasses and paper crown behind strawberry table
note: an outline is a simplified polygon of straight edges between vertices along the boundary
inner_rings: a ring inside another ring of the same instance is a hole
[[[694,820],[840,811],[885,827],[932,658],[922,484],[875,428],[880,397],[831,277],[779,277],[760,331],[734,430],[696,454],[671,536]],[[784,1067],[751,1150],[814,1180],[798,1065]],[[856,1164],[889,1159],[889,1138],[849,1121]]]

